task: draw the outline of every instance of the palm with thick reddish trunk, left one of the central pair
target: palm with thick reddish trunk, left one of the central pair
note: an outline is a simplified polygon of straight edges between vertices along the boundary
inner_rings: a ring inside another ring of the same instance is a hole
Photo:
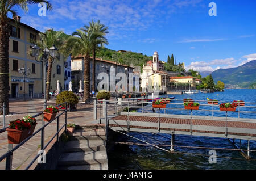
[[[84,101],[90,97],[90,53],[93,50],[93,39],[93,33],[78,29],[65,45],[72,56],[84,56]]]

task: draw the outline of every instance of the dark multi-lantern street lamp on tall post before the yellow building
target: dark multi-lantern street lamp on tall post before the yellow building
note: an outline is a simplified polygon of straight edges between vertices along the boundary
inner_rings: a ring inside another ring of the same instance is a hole
[[[40,47],[38,47],[36,44],[34,45],[34,47],[31,48],[32,50],[32,56],[35,57],[35,61],[41,63],[44,62],[44,110],[47,107],[47,100],[46,100],[46,66],[47,66],[47,60],[48,57],[51,56],[54,58],[57,57],[57,51],[58,49],[53,45],[51,48],[44,48],[41,49]],[[40,55],[40,51],[42,50],[43,54],[42,54],[42,61],[38,60],[38,57]]]

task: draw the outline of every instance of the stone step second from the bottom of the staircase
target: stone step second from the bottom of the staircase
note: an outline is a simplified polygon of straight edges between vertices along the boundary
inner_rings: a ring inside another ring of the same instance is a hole
[[[98,163],[108,163],[106,150],[104,151],[80,151],[73,153],[63,153],[60,156],[59,166],[93,165]]]

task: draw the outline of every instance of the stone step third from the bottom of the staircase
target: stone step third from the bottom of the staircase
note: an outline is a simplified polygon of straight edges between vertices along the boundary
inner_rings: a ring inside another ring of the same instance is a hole
[[[105,140],[72,140],[65,144],[64,152],[79,152],[79,151],[101,151],[106,150]]]

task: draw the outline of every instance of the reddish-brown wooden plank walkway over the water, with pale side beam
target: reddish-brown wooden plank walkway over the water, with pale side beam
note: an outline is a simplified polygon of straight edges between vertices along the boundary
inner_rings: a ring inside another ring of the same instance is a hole
[[[154,115],[154,116],[153,116]],[[168,117],[169,116],[169,117]],[[129,121],[128,121],[129,117]],[[159,132],[159,133],[175,133],[194,136],[209,136],[223,138],[237,138],[243,140],[256,140],[256,120],[249,119],[233,119],[225,117],[207,117],[195,116],[191,119],[188,116],[181,115],[162,115],[148,113],[121,113],[119,116],[109,117],[109,127],[119,131],[134,132]],[[160,124],[159,124],[160,122]],[[105,119],[101,120],[105,124]]]

